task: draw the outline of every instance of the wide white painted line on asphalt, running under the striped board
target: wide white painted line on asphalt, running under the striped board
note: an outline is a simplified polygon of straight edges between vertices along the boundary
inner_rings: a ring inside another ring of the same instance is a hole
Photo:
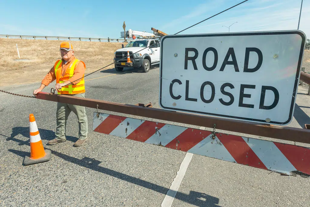
[[[200,127],[199,129],[204,130],[205,127]],[[193,157],[192,153],[186,153],[181,165],[180,165],[180,169],[177,172],[177,175],[175,176],[175,179],[173,180],[173,182],[171,183],[171,186],[164,198],[164,200],[162,201],[162,207],[170,207],[173,203],[173,200],[175,198],[176,193],[179,190],[179,187],[181,185],[181,182],[184,178],[184,175],[186,173],[187,167],[189,165],[189,163],[191,162]]]

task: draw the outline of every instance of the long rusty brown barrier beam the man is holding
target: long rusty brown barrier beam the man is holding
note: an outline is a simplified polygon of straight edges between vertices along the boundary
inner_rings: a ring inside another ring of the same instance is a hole
[[[123,114],[131,114],[183,124],[192,124],[208,128],[213,128],[214,124],[216,124],[216,129],[310,144],[310,130],[303,128],[254,124],[251,122],[239,120],[194,115],[184,112],[168,111],[157,108],[114,103],[109,101],[100,101],[89,98],[50,94],[46,92],[39,92],[37,94],[37,98],[47,101],[56,101],[61,103],[85,106],[94,109],[96,109],[98,105],[98,109],[101,110],[114,111]]]

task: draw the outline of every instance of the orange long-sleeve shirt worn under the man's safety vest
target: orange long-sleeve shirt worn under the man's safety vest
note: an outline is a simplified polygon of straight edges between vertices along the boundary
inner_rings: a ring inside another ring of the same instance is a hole
[[[66,70],[69,68],[69,66],[71,65],[71,62],[73,62],[75,60],[75,56],[73,56],[71,58],[70,61],[66,62],[66,64],[64,64],[64,59],[61,59],[61,75],[64,76]],[[72,82],[73,85],[79,83],[81,81],[80,78],[83,77],[83,74],[85,73],[86,68],[84,67],[84,64],[80,61],[78,63],[78,65],[76,66],[73,76],[72,78],[69,79],[70,82]],[[51,82],[53,82],[56,79],[56,74],[55,74],[55,70],[54,70],[54,66],[51,68],[51,70],[46,74],[46,76],[44,77],[44,79],[42,80],[42,84],[44,84],[45,86],[48,86]],[[77,80],[79,79],[79,80]],[[77,81],[74,81],[77,80]]]

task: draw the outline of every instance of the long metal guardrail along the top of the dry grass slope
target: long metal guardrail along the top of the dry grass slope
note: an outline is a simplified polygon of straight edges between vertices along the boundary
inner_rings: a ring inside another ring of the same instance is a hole
[[[36,39],[36,38],[45,38],[46,40],[47,39],[69,39],[69,41],[71,40],[89,40],[91,42],[91,40],[99,40],[99,42],[101,41],[117,41],[119,43],[119,41],[124,41],[124,39],[115,39],[115,38],[86,38],[86,37],[56,37],[56,36],[32,36],[32,35],[9,35],[9,34],[0,34],[0,38],[3,38],[3,37],[6,37],[6,38],[33,38],[33,39]],[[127,42],[127,39],[126,39],[126,42]]]

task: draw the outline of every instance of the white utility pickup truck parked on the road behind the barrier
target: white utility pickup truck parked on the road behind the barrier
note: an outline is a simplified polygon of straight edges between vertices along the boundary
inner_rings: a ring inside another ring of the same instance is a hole
[[[139,50],[142,51],[137,52]],[[129,51],[130,63],[127,63],[127,51]],[[137,39],[130,41],[124,48],[114,52],[114,66],[118,72],[122,71],[125,67],[133,67],[141,68],[143,72],[147,73],[152,65],[159,64],[159,57],[159,39]],[[119,61],[120,59],[122,60]]]

